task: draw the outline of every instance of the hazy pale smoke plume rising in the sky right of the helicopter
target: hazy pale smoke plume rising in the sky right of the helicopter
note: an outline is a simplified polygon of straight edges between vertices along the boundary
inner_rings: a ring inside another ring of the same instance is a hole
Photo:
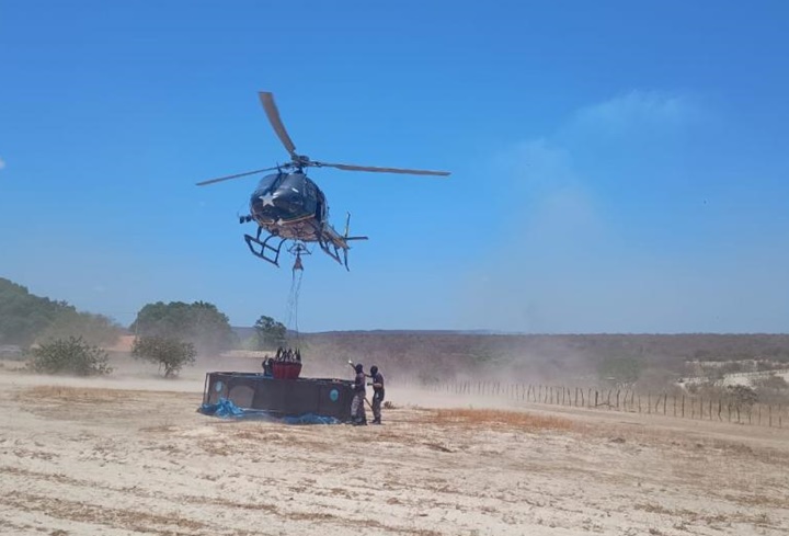
[[[648,289],[671,301],[671,277],[652,274],[642,288],[650,265],[640,243],[625,238],[611,199],[642,187],[644,169],[660,173],[660,158],[674,153],[699,110],[683,94],[631,91],[579,109],[553,132],[498,155],[495,168],[510,178],[502,204],[512,216],[490,258],[468,274],[458,313],[515,331],[658,327],[659,313],[636,311]]]

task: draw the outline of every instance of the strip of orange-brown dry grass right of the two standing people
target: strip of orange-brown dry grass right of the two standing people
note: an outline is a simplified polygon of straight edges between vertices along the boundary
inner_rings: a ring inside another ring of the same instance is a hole
[[[537,430],[575,430],[578,425],[560,417],[537,415],[525,411],[491,409],[439,409],[432,412],[432,422],[443,425],[488,426]]]

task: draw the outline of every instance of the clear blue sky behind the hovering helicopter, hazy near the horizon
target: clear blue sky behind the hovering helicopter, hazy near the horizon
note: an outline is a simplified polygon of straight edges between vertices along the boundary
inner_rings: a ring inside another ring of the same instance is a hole
[[[315,159],[351,272],[300,329],[786,332],[789,5],[0,1],[0,276],[122,323],[208,300],[285,319],[256,179]]]

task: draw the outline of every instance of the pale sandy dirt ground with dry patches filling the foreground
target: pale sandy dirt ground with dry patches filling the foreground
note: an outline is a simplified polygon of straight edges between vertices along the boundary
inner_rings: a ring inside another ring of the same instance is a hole
[[[787,429],[397,386],[382,426],[233,422],[199,368],[0,365],[5,536],[789,534]]]

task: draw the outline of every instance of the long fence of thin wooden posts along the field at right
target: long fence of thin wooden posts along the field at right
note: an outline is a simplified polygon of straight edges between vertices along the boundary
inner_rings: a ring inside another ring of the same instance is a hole
[[[733,422],[784,427],[789,424],[787,404],[759,403],[736,397],[705,397],[667,392],[636,392],[631,389],[601,389],[500,381],[449,381],[421,385],[423,389],[451,395],[499,397],[524,402],[565,406],[677,419]]]

